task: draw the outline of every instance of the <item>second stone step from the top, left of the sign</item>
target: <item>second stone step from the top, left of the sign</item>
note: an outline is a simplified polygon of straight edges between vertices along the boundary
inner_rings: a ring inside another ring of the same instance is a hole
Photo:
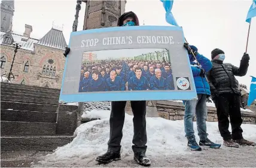
[[[2,92],[8,92],[8,93],[19,93],[19,94],[32,94],[32,95],[38,95],[38,96],[59,96],[60,93],[53,93],[49,91],[38,91],[38,90],[17,90],[14,88],[2,88],[1,87],[1,93]]]

